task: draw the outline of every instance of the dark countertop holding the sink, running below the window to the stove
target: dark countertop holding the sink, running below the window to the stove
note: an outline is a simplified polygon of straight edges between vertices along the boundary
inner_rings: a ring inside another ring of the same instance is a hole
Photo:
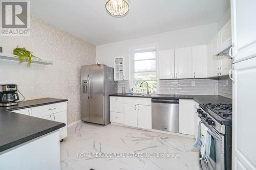
[[[173,95],[173,94],[152,94],[152,95],[129,95],[129,94],[111,94],[110,96],[131,97],[131,98],[172,98],[172,99],[193,99],[197,103],[222,103],[230,104],[232,99],[221,95]]]

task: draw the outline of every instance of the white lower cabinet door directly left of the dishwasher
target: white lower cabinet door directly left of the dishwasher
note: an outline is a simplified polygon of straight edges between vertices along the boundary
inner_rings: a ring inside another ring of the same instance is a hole
[[[137,105],[138,109],[138,128],[152,129],[151,106]]]

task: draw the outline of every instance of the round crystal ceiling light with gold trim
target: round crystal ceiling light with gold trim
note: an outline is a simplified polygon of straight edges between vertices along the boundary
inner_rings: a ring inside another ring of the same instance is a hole
[[[129,0],[106,0],[106,11],[114,17],[123,17],[129,11]]]

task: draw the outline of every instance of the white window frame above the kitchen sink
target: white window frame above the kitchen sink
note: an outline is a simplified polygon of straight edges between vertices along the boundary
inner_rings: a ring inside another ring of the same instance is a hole
[[[155,60],[156,61],[156,69],[155,71],[137,71],[137,72],[155,72],[156,73],[156,80],[135,80],[134,79],[134,75],[135,75],[135,69],[134,69],[134,62],[135,62],[135,59],[134,59],[134,55],[136,53],[146,53],[146,52],[155,52],[155,58],[151,58],[151,59],[141,59],[141,60],[136,60],[136,61],[149,61],[149,60]],[[156,82],[156,91],[158,92],[159,91],[159,79],[158,79],[158,66],[157,66],[157,63],[158,63],[158,60],[157,60],[157,47],[151,47],[151,48],[145,48],[145,49],[142,49],[142,50],[133,50],[131,52],[131,87],[133,89],[135,89],[135,82],[136,81],[140,81],[140,82]],[[153,92],[151,92],[153,93]]]

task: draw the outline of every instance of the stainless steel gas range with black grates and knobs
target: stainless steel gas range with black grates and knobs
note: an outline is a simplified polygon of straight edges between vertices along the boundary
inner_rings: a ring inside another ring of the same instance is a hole
[[[202,169],[231,170],[232,104],[200,104],[197,112],[211,135],[209,162],[200,160]]]

